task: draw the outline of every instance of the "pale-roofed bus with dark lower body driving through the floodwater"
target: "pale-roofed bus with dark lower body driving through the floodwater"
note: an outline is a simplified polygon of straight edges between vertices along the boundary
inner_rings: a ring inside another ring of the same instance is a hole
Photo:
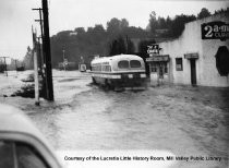
[[[95,84],[110,88],[145,89],[146,73],[143,59],[135,55],[95,58],[91,62]]]

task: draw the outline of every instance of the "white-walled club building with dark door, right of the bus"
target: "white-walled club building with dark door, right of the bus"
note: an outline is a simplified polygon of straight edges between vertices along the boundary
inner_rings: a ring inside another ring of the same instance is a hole
[[[153,82],[229,86],[228,13],[186,23],[179,38],[158,45],[147,59]]]

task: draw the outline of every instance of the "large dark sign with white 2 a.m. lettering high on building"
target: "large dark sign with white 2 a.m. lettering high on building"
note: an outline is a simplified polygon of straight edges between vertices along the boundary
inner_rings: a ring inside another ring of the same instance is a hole
[[[208,22],[201,25],[202,39],[220,39],[229,38],[229,24],[225,22]]]

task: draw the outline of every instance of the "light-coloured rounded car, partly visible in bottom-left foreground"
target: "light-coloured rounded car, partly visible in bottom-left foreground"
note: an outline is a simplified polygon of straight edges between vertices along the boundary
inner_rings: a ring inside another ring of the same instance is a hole
[[[19,109],[0,104],[0,168],[61,168],[53,149]]]

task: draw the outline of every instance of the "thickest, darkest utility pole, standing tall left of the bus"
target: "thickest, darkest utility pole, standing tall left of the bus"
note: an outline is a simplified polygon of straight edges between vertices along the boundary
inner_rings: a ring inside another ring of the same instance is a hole
[[[44,16],[44,53],[46,64],[46,91],[47,99],[53,100],[53,84],[52,84],[52,68],[51,68],[51,51],[50,51],[50,38],[49,38],[49,20],[48,20],[48,2],[43,1],[43,16]]]

